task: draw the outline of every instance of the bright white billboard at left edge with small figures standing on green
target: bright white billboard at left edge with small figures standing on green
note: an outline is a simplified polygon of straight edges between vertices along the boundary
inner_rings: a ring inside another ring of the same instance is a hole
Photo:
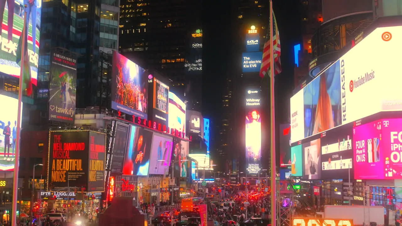
[[[0,157],[0,171],[13,171],[17,138],[18,99],[0,95],[0,103],[7,106],[7,110],[0,111],[0,129],[2,129],[0,133],[0,156],[4,154],[4,158]],[[23,115],[22,104],[21,117]]]

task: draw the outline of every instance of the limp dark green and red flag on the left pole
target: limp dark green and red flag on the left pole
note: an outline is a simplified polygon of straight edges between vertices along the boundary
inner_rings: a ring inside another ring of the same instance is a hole
[[[32,80],[31,80],[31,66],[29,65],[29,55],[28,55],[28,26],[26,25],[26,19],[24,18],[24,28],[23,32],[18,40],[17,52],[16,52],[16,63],[23,68],[21,70],[20,79],[22,82],[22,90],[27,89],[27,96],[32,95]],[[35,28],[33,28],[35,29]],[[23,44],[24,42],[24,44]],[[24,47],[24,51],[22,48]],[[34,45],[35,48],[35,45]]]

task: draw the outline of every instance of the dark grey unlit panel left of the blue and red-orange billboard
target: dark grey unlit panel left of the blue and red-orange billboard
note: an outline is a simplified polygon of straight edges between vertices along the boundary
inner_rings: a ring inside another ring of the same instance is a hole
[[[121,171],[123,170],[128,129],[128,125],[117,123],[113,157],[111,160],[112,174],[121,174]]]

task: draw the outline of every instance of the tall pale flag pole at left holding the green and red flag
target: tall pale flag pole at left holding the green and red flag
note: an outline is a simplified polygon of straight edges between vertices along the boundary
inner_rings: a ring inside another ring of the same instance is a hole
[[[22,96],[23,96],[23,65],[24,65],[24,54],[25,54],[25,41],[27,40],[27,32],[26,26],[27,26],[27,5],[24,5],[25,12],[24,12],[24,27],[23,27],[23,32],[20,37],[22,38],[23,41],[21,42],[21,69],[20,69],[20,84],[18,88],[18,113],[17,113],[17,138],[16,138],[16,148],[15,148],[15,163],[14,163],[14,178],[13,178],[13,183],[12,183],[12,215],[11,215],[11,225],[16,226],[17,224],[17,200],[18,200],[18,171],[19,171],[19,165],[20,165],[20,140],[21,140],[21,101],[22,101]],[[35,47],[35,44],[34,44]],[[5,151],[5,150],[4,150]],[[33,203],[31,203],[33,205]],[[32,216],[30,216],[32,219]]]

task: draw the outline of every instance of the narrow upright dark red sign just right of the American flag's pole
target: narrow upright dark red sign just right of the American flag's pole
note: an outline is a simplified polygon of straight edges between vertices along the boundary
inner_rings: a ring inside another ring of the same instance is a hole
[[[291,166],[290,157],[290,125],[279,125],[279,164],[281,167],[287,168]]]

